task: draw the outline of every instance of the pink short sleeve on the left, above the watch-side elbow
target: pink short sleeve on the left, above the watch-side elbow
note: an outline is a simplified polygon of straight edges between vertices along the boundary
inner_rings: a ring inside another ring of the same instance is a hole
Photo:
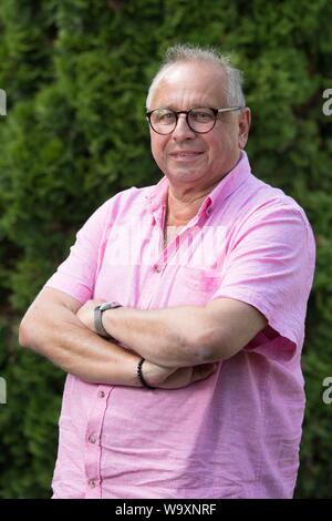
[[[95,278],[103,255],[111,200],[100,206],[76,234],[69,257],[45,283],[81,303],[93,297]]]

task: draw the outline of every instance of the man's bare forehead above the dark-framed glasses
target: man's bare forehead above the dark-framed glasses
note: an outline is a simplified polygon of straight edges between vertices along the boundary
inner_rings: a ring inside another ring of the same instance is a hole
[[[152,106],[190,109],[222,106],[226,85],[222,71],[210,63],[176,63],[166,69],[155,89]]]

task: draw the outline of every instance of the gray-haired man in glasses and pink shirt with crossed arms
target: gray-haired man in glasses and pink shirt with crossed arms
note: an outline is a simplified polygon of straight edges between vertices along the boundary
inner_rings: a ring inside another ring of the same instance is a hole
[[[291,498],[314,267],[250,171],[241,75],[176,45],[147,96],[155,186],[106,201],[27,311],[68,374],[54,498]]]

